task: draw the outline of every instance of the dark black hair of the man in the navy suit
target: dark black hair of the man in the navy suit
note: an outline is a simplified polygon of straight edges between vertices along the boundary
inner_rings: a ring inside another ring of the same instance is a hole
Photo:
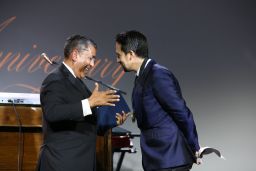
[[[116,42],[121,45],[125,54],[133,51],[137,56],[148,58],[147,38],[142,33],[136,30],[119,33],[116,35]]]

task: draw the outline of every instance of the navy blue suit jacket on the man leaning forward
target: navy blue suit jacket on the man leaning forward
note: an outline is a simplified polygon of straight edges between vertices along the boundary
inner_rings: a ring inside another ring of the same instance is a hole
[[[153,171],[195,161],[199,150],[193,116],[175,76],[151,60],[136,80],[132,104],[141,130],[143,168]]]

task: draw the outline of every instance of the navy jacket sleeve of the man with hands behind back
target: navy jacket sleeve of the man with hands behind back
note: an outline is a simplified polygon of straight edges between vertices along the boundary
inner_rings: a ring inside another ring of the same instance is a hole
[[[200,149],[193,115],[182,97],[175,76],[165,68],[153,70],[153,92],[163,109],[173,118],[193,152]]]

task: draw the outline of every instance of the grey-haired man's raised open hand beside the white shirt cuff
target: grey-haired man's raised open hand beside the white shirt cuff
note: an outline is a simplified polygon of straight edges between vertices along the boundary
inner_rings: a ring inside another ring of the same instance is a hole
[[[119,101],[120,96],[116,95],[116,91],[107,90],[99,91],[99,84],[95,83],[92,95],[88,98],[90,107],[96,106],[115,106],[115,102]]]

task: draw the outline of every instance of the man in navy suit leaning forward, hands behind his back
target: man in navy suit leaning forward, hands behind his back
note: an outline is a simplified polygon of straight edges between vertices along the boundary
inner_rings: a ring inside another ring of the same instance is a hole
[[[132,106],[141,130],[144,170],[190,170],[200,147],[192,113],[177,79],[148,58],[147,39],[140,32],[118,34],[116,55],[125,71],[136,72]]]

